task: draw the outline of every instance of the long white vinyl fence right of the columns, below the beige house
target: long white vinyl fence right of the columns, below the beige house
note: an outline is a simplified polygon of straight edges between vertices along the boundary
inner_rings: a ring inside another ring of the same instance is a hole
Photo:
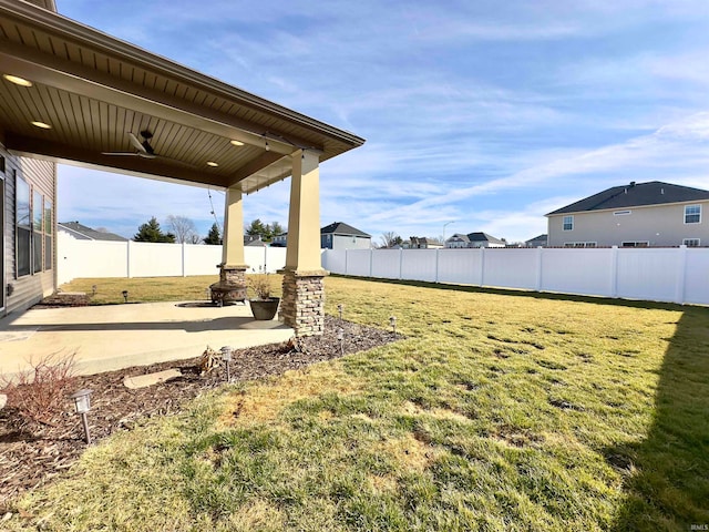
[[[709,248],[326,249],[335,274],[709,305]]]

